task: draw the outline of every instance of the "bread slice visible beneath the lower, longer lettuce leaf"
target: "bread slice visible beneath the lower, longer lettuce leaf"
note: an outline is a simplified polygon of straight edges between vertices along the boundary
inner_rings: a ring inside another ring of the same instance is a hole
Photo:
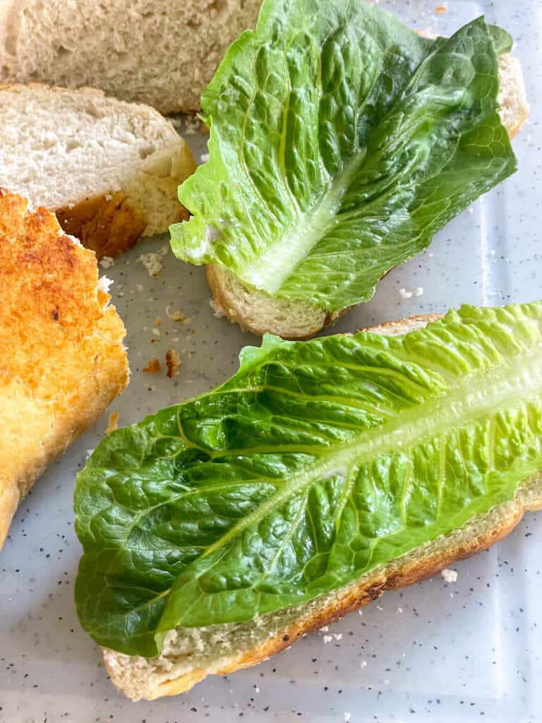
[[[411,317],[371,328],[374,333],[398,335],[423,328],[438,315]],[[334,592],[297,607],[262,615],[249,623],[178,628],[165,638],[163,651],[152,659],[104,649],[113,683],[133,700],[154,700],[184,693],[207,675],[227,675],[262,662],[301,636],[363,607],[387,590],[412,585],[457,560],[486,549],[507,535],[527,510],[542,508],[542,474],[525,479],[513,500],[460,529],[371,570]]]

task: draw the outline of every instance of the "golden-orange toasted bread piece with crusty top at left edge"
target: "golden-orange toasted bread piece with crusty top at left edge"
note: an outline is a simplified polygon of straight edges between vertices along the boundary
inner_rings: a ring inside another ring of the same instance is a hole
[[[52,213],[0,188],[0,548],[35,479],[128,383],[106,286]]]

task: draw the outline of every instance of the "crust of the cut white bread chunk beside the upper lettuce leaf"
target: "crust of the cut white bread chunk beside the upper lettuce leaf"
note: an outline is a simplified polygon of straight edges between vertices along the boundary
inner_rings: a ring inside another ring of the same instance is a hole
[[[0,93],[22,93],[28,87],[57,95],[106,98],[103,91],[95,88],[69,90],[43,83],[0,84]],[[147,111],[158,116],[152,108]],[[105,189],[92,197],[73,199],[60,208],[48,209],[56,214],[66,234],[76,236],[95,252],[98,260],[116,257],[134,246],[140,236],[162,234],[172,223],[189,218],[189,212],[178,202],[177,189],[194,173],[197,164],[186,142],[169,121],[163,122],[171,128],[173,144],[142,159],[137,174],[126,178],[123,187]]]

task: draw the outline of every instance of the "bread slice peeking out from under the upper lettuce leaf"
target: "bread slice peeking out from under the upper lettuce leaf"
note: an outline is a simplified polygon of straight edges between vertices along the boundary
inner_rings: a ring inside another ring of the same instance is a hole
[[[529,112],[520,61],[509,55],[499,57],[499,83],[501,117],[512,138]],[[215,265],[207,266],[207,280],[215,309],[257,335],[267,331],[285,339],[307,339],[348,311],[329,312],[307,301],[278,299],[248,288],[233,272]]]

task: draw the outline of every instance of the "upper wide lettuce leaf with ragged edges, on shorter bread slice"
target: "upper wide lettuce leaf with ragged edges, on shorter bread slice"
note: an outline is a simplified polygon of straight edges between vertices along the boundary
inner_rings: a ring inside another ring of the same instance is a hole
[[[515,171],[478,18],[429,40],[358,0],[265,0],[202,95],[210,161],[179,189],[181,259],[336,310]]]

